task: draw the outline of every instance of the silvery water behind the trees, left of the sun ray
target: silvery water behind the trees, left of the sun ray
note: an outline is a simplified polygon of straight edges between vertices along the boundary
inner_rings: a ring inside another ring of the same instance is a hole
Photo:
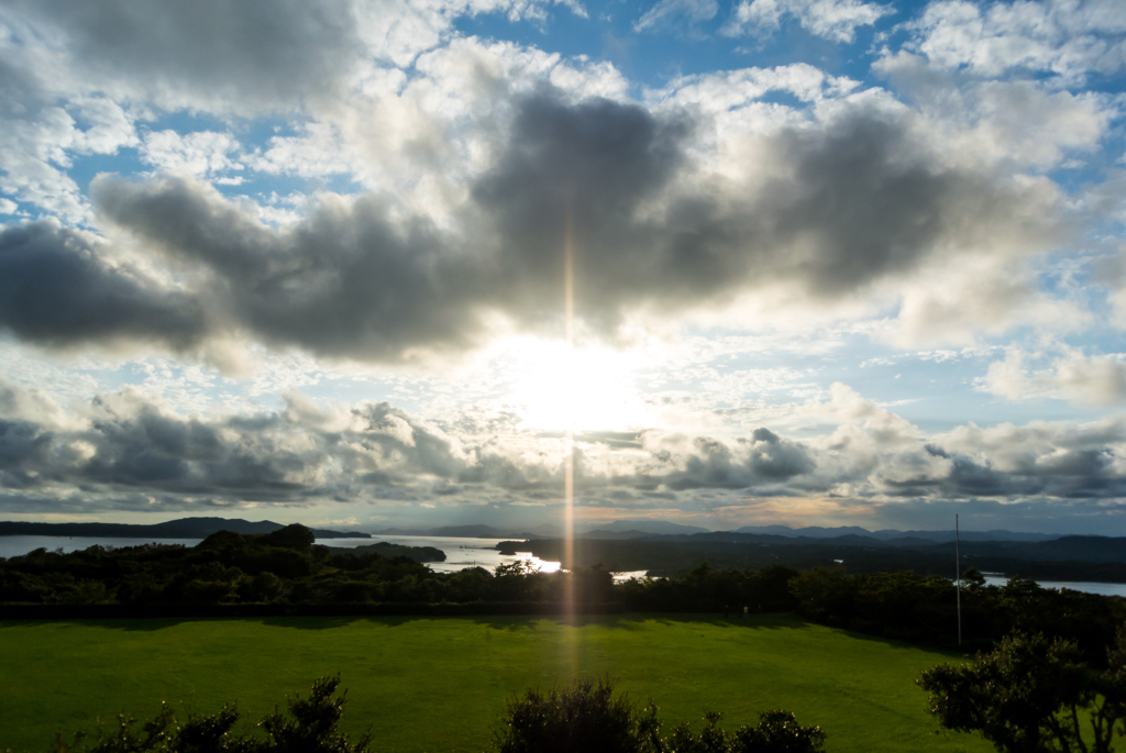
[[[48,552],[62,549],[75,552],[98,545],[104,547],[128,547],[142,544],[181,544],[195,546],[203,539],[144,539],[144,538],[100,538],[92,536],[0,536],[0,557],[18,557],[35,549],[45,548]],[[492,572],[497,565],[528,561],[531,568],[544,573],[554,573],[560,568],[557,562],[545,562],[530,552],[517,552],[515,555],[502,555],[497,552],[497,544],[504,539],[463,539],[437,536],[378,536],[369,539],[341,538],[318,539],[318,544],[333,547],[358,547],[387,541],[402,546],[432,546],[446,553],[446,562],[427,563],[438,573],[456,573],[466,567],[484,567]]]

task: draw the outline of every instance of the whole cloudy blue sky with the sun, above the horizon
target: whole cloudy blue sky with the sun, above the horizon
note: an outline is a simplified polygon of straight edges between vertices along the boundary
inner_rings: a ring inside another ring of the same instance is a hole
[[[1124,84],[1121,0],[0,0],[0,518],[536,527],[572,431],[590,525],[1126,536]]]

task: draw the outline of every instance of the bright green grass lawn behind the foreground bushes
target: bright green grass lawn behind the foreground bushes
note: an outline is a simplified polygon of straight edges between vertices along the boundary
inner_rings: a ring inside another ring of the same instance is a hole
[[[951,658],[788,616],[0,622],[0,750],[43,751],[56,729],[151,716],[161,700],[236,700],[257,720],[340,672],[345,727],[370,725],[376,753],[481,751],[506,696],[599,674],[653,698],[669,726],[715,709],[733,728],[785,708],[821,725],[829,751],[990,751],[933,734],[912,681]]]

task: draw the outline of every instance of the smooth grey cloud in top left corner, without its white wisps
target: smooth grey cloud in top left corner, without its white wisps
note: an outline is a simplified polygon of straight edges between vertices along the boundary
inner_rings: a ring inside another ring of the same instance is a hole
[[[331,91],[363,51],[346,0],[6,0],[54,27],[81,75],[128,82],[158,101],[282,105]]]

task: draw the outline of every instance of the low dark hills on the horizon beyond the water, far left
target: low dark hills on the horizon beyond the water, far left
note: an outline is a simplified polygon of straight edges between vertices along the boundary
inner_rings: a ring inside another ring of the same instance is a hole
[[[180,518],[163,523],[137,526],[133,523],[32,523],[24,521],[0,521],[0,536],[86,536],[92,538],[125,539],[204,539],[216,531],[252,535],[269,534],[280,528],[282,523],[272,520],[249,521],[241,518]],[[369,534],[356,531],[333,531],[323,528],[312,528],[316,538],[363,538],[369,539]]]

